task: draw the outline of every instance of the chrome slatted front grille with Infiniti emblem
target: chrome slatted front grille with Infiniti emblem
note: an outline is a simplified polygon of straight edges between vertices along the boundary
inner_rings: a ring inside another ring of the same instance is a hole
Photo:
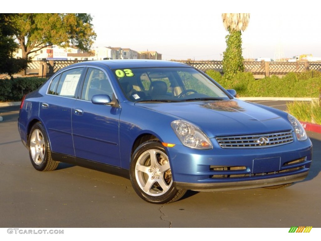
[[[293,142],[291,131],[244,136],[217,137],[222,148],[265,148]]]

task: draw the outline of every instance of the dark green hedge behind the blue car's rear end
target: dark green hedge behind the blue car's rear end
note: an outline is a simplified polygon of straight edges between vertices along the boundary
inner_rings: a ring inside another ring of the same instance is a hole
[[[25,94],[38,89],[45,80],[38,77],[0,79],[0,102],[21,101]]]

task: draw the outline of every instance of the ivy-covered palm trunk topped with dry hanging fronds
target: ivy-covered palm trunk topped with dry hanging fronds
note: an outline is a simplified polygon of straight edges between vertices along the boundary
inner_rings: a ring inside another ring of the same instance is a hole
[[[233,78],[237,72],[244,72],[242,56],[241,31],[247,28],[249,13],[222,13],[224,27],[229,34],[225,37],[226,50],[223,52],[223,72],[227,79]]]

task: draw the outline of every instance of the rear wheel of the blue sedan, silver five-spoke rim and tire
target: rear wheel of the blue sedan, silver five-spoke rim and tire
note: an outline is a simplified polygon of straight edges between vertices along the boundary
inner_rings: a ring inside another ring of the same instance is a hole
[[[59,165],[59,162],[51,158],[48,138],[40,122],[34,124],[30,130],[29,156],[31,164],[38,171],[53,171]]]

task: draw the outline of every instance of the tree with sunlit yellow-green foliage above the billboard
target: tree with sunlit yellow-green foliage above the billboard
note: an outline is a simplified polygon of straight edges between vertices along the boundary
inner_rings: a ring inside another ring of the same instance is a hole
[[[88,13],[18,13],[12,17],[22,58],[51,45],[90,51],[96,33]]]

